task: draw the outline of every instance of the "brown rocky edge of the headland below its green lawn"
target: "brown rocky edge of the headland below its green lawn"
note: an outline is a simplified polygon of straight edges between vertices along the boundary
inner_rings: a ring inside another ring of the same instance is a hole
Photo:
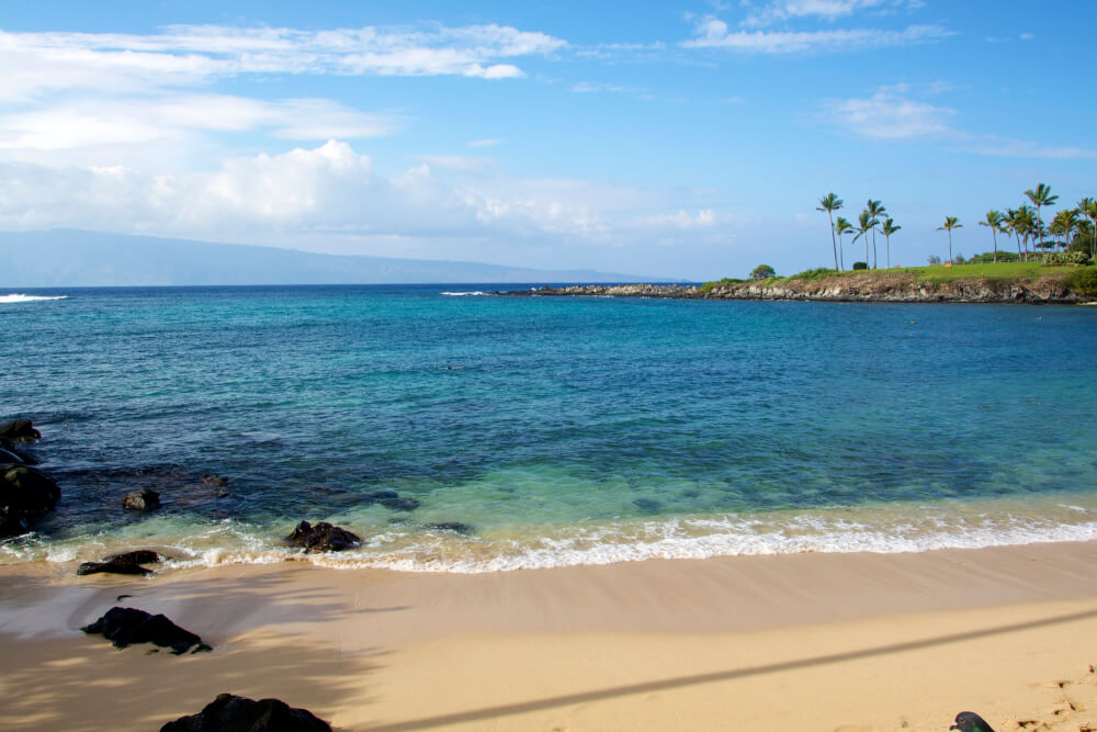
[[[664,297],[670,300],[793,300],[844,303],[1032,303],[1083,304],[1097,297],[1072,291],[1062,277],[1021,280],[929,282],[900,272],[857,272],[821,279],[685,284],[544,286],[494,293],[508,296]]]

